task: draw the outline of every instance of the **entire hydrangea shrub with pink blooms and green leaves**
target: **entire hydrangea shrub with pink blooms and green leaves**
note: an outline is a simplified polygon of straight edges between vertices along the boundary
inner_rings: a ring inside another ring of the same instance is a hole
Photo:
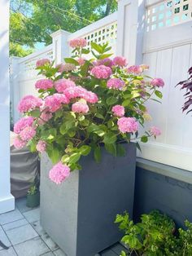
[[[27,145],[33,152],[47,152],[55,165],[49,174],[55,183],[80,170],[81,157],[91,151],[99,162],[101,147],[124,156],[122,143],[135,140],[139,148],[139,140],[160,135],[155,126],[142,136],[138,129],[151,121],[145,104],[153,95],[162,98],[162,79],[146,76],[145,64],[129,67],[124,57],[111,59],[107,44],[92,42],[90,60],[85,59],[85,39],[74,39],[70,46],[72,57],[64,64],[37,61],[37,70],[45,77],[35,84],[39,96],[20,100],[18,109],[24,117],[14,127],[15,148]]]

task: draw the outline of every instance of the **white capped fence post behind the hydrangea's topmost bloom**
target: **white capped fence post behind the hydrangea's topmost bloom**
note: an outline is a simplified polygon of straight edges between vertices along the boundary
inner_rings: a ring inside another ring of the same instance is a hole
[[[69,34],[69,32],[59,29],[58,31],[50,35],[53,42],[53,58],[55,60],[55,64],[62,63],[63,58],[68,57],[69,55]]]

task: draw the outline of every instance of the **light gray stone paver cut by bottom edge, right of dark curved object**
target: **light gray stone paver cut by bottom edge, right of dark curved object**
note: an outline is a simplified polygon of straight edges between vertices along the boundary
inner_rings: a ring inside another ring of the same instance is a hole
[[[39,256],[50,252],[50,249],[39,236],[19,245],[14,245],[14,248],[18,256]]]

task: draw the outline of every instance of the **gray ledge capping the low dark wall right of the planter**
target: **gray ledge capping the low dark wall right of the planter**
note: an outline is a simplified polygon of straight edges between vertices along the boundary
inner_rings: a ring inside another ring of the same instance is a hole
[[[192,171],[179,169],[177,167],[166,166],[155,161],[137,157],[137,167],[150,170],[156,174],[161,174],[172,179],[177,179],[185,183],[192,184]]]

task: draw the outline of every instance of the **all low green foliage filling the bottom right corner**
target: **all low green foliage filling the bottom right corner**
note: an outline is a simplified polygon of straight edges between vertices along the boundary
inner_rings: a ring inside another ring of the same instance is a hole
[[[165,214],[154,210],[142,214],[140,223],[133,223],[129,214],[117,214],[115,223],[124,232],[121,241],[129,246],[129,255],[190,256],[192,255],[192,223],[185,221],[186,229],[178,229]],[[127,254],[122,251],[120,256]]]

